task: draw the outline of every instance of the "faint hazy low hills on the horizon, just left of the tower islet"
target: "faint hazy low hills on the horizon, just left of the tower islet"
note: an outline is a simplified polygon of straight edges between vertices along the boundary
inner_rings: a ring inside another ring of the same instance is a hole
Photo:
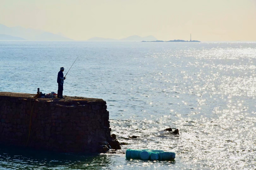
[[[152,35],[147,37],[140,37],[138,35],[133,35],[127,38],[119,39],[119,40],[111,39],[111,38],[93,37],[88,39],[87,41],[157,41],[157,39]]]

